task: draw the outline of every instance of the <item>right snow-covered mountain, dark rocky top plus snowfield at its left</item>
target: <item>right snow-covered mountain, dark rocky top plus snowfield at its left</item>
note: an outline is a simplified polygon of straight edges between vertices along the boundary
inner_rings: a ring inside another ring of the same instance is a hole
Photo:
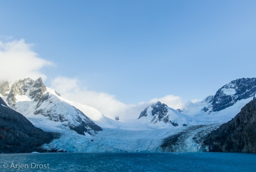
[[[181,111],[187,115],[232,114],[234,117],[246,103],[255,99],[255,94],[256,78],[240,78],[225,84],[214,96],[210,95],[203,101],[187,102]]]

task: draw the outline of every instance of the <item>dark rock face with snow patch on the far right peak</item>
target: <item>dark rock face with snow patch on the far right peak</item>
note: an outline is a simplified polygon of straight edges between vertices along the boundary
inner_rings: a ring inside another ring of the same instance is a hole
[[[253,97],[256,93],[256,78],[241,78],[218,89],[212,100],[212,111],[220,111],[237,101]]]

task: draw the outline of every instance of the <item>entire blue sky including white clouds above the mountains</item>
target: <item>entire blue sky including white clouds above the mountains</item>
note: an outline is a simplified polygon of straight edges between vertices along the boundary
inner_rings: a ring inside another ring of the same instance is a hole
[[[0,1],[0,79],[118,115],[256,77],[256,1]],[[129,110],[128,110],[129,111]]]

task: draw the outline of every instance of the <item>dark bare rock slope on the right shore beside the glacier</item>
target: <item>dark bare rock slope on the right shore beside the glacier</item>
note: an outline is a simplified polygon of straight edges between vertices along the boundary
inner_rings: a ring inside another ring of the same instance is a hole
[[[235,118],[211,132],[204,140],[209,151],[256,152],[256,100],[249,102]]]

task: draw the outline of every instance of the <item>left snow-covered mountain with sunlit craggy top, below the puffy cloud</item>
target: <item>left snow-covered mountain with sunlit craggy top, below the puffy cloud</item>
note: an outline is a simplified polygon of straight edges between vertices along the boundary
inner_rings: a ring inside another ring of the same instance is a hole
[[[1,88],[8,88],[7,82]],[[67,103],[56,91],[47,88],[41,78],[35,81],[31,78],[21,79],[9,88],[9,92],[2,89],[8,105],[39,128],[50,131],[70,129],[82,135],[93,135],[102,130],[80,109]]]

